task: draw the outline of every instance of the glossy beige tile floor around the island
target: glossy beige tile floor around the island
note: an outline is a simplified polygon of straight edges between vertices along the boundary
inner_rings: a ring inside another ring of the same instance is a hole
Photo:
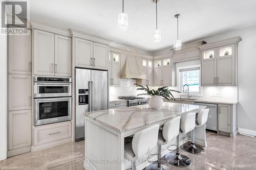
[[[256,170],[256,138],[238,135],[236,139],[212,132],[206,134],[207,144],[204,155],[187,155],[193,162],[190,167],[173,170],[214,170],[237,169]],[[43,151],[26,153],[0,161],[4,169],[83,169],[77,159],[84,158],[84,141],[67,143]]]

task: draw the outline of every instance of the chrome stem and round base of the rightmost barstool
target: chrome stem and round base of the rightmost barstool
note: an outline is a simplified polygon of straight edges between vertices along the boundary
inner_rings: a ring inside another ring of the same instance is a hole
[[[191,154],[204,154],[204,149],[200,147],[198,144],[195,144],[195,131],[194,129],[191,131],[191,142],[186,142],[182,144],[181,148]]]

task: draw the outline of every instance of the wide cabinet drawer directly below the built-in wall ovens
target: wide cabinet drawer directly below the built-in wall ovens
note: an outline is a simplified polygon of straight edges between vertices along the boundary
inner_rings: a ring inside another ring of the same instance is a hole
[[[35,146],[66,139],[69,137],[72,137],[71,122],[43,125],[34,129]]]

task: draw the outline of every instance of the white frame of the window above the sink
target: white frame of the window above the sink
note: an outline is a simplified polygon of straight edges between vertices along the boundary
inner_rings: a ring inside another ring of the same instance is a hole
[[[187,95],[187,93],[183,93],[183,87],[182,86],[182,74],[180,69],[193,69],[199,67],[199,92],[192,92],[189,91],[189,95],[190,96],[202,96],[202,90],[201,90],[201,64],[197,64],[197,65],[189,65],[189,66],[181,66],[181,67],[177,67],[177,86],[179,91],[181,92],[180,95]]]

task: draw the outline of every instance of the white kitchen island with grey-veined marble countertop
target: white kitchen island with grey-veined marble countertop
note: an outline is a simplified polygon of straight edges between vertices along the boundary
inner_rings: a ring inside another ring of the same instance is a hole
[[[131,163],[124,159],[124,143],[129,136],[152,125],[160,126],[176,116],[203,110],[205,106],[164,102],[161,109],[149,105],[132,106],[84,113],[85,117],[85,160],[84,168],[124,170]],[[180,144],[185,141],[180,138]],[[167,143],[162,155],[167,154]],[[195,128],[195,143],[206,146],[205,126]],[[175,148],[174,148],[175,150]],[[157,153],[157,149],[152,154]],[[136,169],[143,169],[150,163],[136,163]]]

